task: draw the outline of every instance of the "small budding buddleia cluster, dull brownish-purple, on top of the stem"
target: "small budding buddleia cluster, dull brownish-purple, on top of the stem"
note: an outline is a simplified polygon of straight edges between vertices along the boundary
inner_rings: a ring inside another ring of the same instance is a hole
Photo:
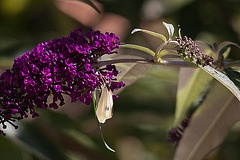
[[[201,52],[196,43],[191,38],[188,38],[187,36],[184,36],[182,38],[179,36],[176,37],[176,40],[179,43],[180,47],[178,53],[183,58],[188,59],[191,62],[195,62],[197,65],[211,66],[213,64],[213,57]]]

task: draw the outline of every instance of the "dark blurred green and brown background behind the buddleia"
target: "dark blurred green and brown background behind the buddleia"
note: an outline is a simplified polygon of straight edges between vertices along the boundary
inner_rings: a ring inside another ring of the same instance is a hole
[[[99,12],[101,14],[99,14]],[[159,41],[134,28],[167,35],[162,21],[183,35],[208,44],[240,40],[239,0],[0,0],[0,71],[38,43],[82,27],[114,32],[124,43],[156,50]],[[229,59],[240,59],[232,48]],[[102,126],[101,140],[92,106],[66,103],[0,137],[1,160],[170,160],[178,68],[153,66],[114,102],[114,116]],[[240,129],[234,127],[212,160],[240,159]]]

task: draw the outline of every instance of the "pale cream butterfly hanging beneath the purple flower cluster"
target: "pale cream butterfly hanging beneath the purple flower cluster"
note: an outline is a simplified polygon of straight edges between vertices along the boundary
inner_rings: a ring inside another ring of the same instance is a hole
[[[112,91],[104,84],[102,93],[97,104],[96,115],[100,123],[105,123],[107,119],[112,118],[113,96]]]

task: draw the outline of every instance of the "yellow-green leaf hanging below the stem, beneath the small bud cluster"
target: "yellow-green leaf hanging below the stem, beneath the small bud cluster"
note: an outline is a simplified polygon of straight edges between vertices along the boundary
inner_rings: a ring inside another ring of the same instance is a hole
[[[186,116],[191,104],[205,91],[213,78],[201,69],[181,68],[178,80],[175,125]]]

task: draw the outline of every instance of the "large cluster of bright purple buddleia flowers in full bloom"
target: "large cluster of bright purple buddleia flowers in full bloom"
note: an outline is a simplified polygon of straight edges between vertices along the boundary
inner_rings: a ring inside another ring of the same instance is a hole
[[[108,79],[111,90],[124,86],[116,82],[118,71],[114,65],[98,69],[94,66],[105,54],[117,53],[119,38],[113,33],[102,34],[90,30],[87,34],[76,29],[68,37],[38,44],[14,60],[12,69],[0,76],[0,123],[15,128],[16,120],[31,115],[38,117],[36,109],[57,109],[65,104],[63,95],[90,104],[95,88]],[[49,97],[52,95],[52,99]],[[0,134],[5,133],[0,130]]]

